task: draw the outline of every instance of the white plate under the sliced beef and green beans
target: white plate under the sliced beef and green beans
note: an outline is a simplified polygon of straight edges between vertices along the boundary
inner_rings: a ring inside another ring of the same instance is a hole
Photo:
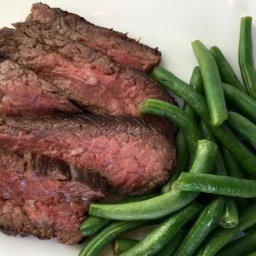
[[[10,26],[25,19],[34,1],[1,0],[0,3],[0,26]],[[196,65],[190,46],[195,39],[201,39],[208,47],[218,45],[238,73],[240,17],[252,15],[256,20],[253,0],[45,0],[44,3],[84,16],[96,25],[129,32],[144,44],[158,46],[163,55],[162,65],[185,81],[189,81]],[[79,253],[79,248],[53,240],[0,233],[0,255],[4,256],[73,256]],[[109,255],[107,249],[102,255]]]

